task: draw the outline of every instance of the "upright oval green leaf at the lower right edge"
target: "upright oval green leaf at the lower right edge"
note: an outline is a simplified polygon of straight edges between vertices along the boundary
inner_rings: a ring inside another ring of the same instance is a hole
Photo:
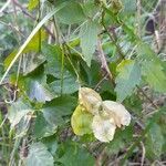
[[[162,134],[159,125],[154,123],[149,132],[147,133],[147,139],[145,143],[147,157],[149,157],[151,159],[159,159],[162,155],[164,141],[165,138]]]

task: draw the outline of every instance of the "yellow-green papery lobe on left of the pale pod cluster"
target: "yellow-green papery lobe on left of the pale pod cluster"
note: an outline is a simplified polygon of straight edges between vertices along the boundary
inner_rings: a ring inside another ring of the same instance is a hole
[[[76,135],[91,134],[92,121],[93,115],[79,105],[71,117],[71,124],[74,133]]]

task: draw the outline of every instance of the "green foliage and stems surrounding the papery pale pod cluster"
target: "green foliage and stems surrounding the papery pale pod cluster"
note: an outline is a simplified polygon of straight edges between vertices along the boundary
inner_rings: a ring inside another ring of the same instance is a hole
[[[157,7],[156,0],[0,2],[1,165],[166,164],[166,4]],[[147,34],[152,17],[156,31]],[[73,134],[80,86],[132,114],[111,143]]]

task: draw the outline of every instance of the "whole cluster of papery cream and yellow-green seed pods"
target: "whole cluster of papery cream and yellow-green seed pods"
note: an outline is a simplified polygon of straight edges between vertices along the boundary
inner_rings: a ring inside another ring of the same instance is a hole
[[[116,127],[129,125],[131,114],[121,103],[102,101],[94,90],[81,87],[71,123],[76,135],[93,133],[98,141],[110,142]]]

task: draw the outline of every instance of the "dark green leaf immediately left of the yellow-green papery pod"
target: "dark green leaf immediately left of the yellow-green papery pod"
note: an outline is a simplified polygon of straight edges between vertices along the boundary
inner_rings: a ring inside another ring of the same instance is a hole
[[[61,125],[63,116],[70,115],[76,105],[76,98],[64,95],[45,103],[42,108],[43,116],[49,124]]]

